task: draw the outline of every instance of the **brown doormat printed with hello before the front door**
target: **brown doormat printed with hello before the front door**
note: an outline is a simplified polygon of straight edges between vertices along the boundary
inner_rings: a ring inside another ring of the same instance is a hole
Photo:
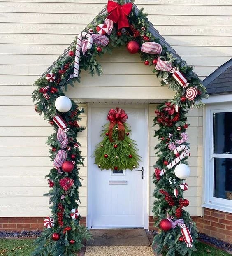
[[[87,242],[88,246],[120,246],[137,245],[150,246],[145,229],[90,229],[93,240]]]

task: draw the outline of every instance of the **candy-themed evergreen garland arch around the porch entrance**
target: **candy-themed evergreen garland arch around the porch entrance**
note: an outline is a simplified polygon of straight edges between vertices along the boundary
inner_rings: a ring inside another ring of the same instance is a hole
[[[95,18],[81,32],[68,53],[54,65],[46,76],[35,81],[37,89],[32,93],[35,110],[44,115],[55,130],[48,137],[51,146],[50,158],[54,168],[48,175],[51,214],[44,220],[45,229],[35,244],[33,256],[74,256],[81,249],[82,240],[89,239],[86,228],[79,225],[79,192],[81,186],[79,165],[83,158],[77,141],[81,113],[74,101],[65,97],[67,86],[80,82],[81,70],[90,74],[102,74],[98,57],[111,53],[118,46],[127,46],[130,54],[140,53],[145,65],[153,65],[153,72],[161,79],[161,86],[168,85],[175,91],[174,99],[160,105],[156,110],[154,124],[159,144],[156,146],[158,161],[155,165],[154,183],[156,189],[153,212],[155,226],[160,232],[153,243],[156,251],[168,251],[190,255],[195,250],[197,228],[188,212],[182,207],[188,205],[183,192],[188,189],[184,179],[189,169],[187,158],[189,144],[186,129],[186,114],[189,108],[201,107],[206,89],[193,74],[193,67],[183,64],[166,51],[148,30],[149,24],[142,10],[137,12],[132,3],[109,1],[108,13]]]

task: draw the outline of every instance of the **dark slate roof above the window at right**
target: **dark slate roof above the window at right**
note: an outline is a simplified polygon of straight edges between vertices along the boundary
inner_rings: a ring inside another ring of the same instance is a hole
[[[218,67],[203,81],[209,95],[232,93],[232,59]]]

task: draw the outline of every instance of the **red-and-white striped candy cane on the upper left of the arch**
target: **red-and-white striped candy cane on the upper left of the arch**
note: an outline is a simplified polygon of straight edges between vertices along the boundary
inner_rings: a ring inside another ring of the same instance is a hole
[[[91,49],[92,48],[92,44],[93,44],[93,38],[92,35],[90,35],[87,32],[81,32],[78,36],[77,36],[77,45],[76,45],[76,52],[75,52],[75,61],[74,61],[74,71],[73,71],[73,76],[74,77],[78,77],[78,73],[79,73],[79,62],[80,62],[80,55],[81,55],[81,41],[82,39],[86,37],[88,43],[87,43],[87,49]]]

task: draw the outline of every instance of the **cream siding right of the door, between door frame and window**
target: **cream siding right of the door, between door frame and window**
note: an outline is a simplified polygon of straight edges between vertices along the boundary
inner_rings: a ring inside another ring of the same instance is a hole
[[[154,147],[158,143],[158,139],[153,137],[154,131],[158,130],[158,126],[153,125],[155,117],[156,104],[150,104],[150,216],[153,215],[153,191],[155,185],[153,184],[153,165],[157,161]],[[187,123],[190,126],[186,130],[188,134],[188,142],[190,143],[190,154],[188,158],[190,167],[190,176],[186,179],[188,190],[185,191],[184,197],[189,200],[189,206],[185,209],[191,215],[202,216],[202,109],[192,109],[187,114]]]

